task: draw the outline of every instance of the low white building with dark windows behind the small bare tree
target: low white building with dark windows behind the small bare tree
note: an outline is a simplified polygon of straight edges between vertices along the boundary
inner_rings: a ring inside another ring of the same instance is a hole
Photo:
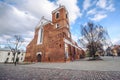
[[[15,59],[17,57],[17,54],[15,54]],[[18,59],[19,62],[23,62],[25,58],[25,52],[21,51],[20,54],[18,54]],[[0,48],[0,62],[1,63],[10,63],[13,62],[14,59],[14,55],[11,52],[11,50],[9,48]]]

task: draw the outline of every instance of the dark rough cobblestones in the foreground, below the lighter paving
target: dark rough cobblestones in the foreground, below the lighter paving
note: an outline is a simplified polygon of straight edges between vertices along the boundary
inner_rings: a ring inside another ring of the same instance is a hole
[[[43,69],[0,64],[0,80],[120,80],[120,71]]]

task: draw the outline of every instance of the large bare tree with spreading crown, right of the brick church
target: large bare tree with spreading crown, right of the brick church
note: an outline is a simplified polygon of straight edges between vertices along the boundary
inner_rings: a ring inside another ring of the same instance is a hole
[[[88,22],[86,25],[81,25],[81,35],[78,41],[88,50],[89,57],[98,59],[96,56],[98,51],[103,51],[103,46],[107,45],[108,33],[101,25],[95,25],[93,22]]]

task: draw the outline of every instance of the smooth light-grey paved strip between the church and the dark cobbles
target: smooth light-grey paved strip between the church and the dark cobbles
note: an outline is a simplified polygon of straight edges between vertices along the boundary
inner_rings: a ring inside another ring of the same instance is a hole
[[[66,63],[35,63],[27,67],[56,68],[72,70],[120,71],[120,57],[102,57],[101,61],[87,59]]]

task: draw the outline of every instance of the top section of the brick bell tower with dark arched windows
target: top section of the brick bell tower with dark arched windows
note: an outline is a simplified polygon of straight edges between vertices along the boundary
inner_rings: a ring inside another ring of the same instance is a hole
[[[52,11],[52,22],[56,24],[56,27],[69,28],[68,11],[64,6],[59,6],[59,8]]]

